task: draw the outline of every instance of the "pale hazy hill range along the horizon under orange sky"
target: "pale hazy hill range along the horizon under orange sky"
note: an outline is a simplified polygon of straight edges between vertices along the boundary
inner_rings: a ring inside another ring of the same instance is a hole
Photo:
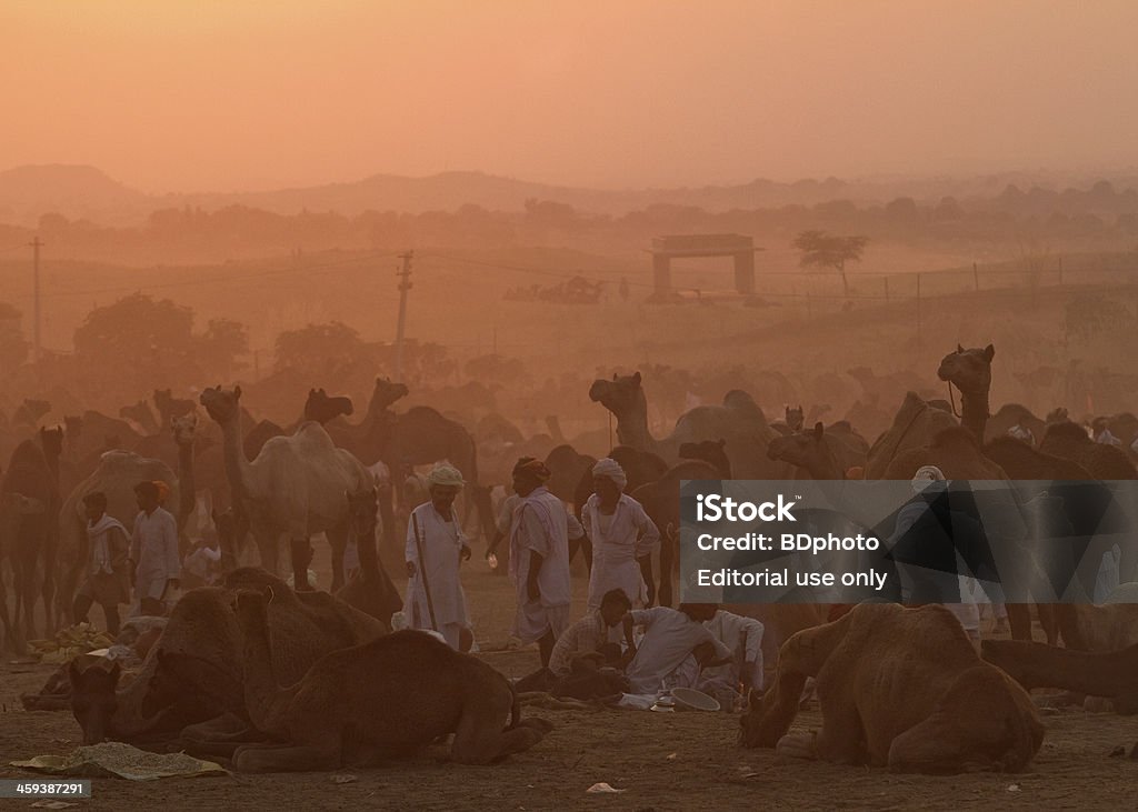
[[[1102,177],[1099,175],[1098,177]],[[34,226],[40,215],[57,212],[69,219],[88,218],[100,225],[133,225],[155,209],[201,207],[214,210],[241,205],[277,214],[337,212],[346,216],[369,209],[421,214],[453,212],[477,205],[498,212],[521,212],[526,200],[554,200],[583,212],[621,215],[653,205],[691,206],[710,213],[731,209],[813,206],[830,200],[858,205],[884,204],[897,197],[937,202],[993,198],[1009,184],[1049,190],[1089,185],[1095,179],[1073,174],[998,173],[973,177],[875,177],[843,181],[835,177],[782,183],[758,179],[735,185],[671,189],[600,190],[533,183],[481,172],[445,172],[426,177],[371,175],[349,183],[281,189],[267,192],[145,194],[91,166],[38,165],[0,172],[0,223]],[[1135,173],[1115,175],[1120,188],[1133,184]]]

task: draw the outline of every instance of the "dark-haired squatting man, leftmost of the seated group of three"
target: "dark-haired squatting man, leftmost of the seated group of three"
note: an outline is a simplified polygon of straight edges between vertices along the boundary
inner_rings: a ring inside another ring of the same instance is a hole
[[[556,693],[556,687],[571,676],[595,672],[603,665],[616,665],[620,648],[608,643],[608,630],[619,625],[630,608],[632,602],[624,590],[605,593],[599,610],[586,614],[558,638],[549,666],[519,680],[518,690]]]

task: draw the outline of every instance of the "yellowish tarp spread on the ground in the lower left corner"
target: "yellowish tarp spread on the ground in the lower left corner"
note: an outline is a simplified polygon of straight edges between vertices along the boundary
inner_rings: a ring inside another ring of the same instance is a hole
[[[200,761],[185,753],[149,753],[122,741],[79,747],[69,755],[38,755],[30,761],[14,761],[11,765],[52,776],[125,778],[131,781],[229,774],[212,761]]]

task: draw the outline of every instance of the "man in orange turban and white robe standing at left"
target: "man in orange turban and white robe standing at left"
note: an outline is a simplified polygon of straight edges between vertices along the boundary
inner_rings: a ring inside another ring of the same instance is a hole
[[[182,562],[178,554],[178,521],[159,507],[158,486],[134,486],[139,515],[131,535],[130,562],[134,566],[134,593],[145,615],[164,615],[167,593],[179,588]]]

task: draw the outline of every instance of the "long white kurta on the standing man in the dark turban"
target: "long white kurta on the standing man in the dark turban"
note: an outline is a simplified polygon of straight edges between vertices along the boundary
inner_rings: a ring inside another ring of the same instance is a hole
[[[537,600],[530,600],[527,581],[531,555],[542,556]],[[569,515],[564,503],[545,487],[518,503],[510,533],[510,575],[518,590],[514,635],[522,644],[546,633],[560,637],[569,625]]]

